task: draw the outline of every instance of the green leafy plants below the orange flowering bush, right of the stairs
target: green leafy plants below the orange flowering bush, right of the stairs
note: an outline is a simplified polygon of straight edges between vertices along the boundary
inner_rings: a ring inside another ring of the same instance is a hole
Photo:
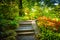
[[[60,40],[60,33],[55,33],[52,30],[41,26],[40,33],[37,36],[38,40]]]

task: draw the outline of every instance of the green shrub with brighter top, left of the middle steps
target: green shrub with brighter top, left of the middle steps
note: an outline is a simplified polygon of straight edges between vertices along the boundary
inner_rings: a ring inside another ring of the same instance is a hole
[[[16,29],[18,27],[18,22],[14,20],[4,20],[2,19],[0,22],[1,31],[9,30],[9,29]]]

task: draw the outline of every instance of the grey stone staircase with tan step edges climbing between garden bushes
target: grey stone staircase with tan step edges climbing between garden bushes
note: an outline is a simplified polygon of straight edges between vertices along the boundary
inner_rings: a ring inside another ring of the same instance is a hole
[[[34,23],[32,20],[21,21],[20,27],[16,30],[17,40],[35,40]]]

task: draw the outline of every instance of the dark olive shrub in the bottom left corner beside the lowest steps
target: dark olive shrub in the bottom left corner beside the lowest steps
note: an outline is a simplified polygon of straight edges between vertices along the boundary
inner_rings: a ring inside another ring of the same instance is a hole
[[[3,32],[0,33],[1,40],[14,40],[15,36],[16,36],[16,32],[14,32],[14,30],[5,30]]]

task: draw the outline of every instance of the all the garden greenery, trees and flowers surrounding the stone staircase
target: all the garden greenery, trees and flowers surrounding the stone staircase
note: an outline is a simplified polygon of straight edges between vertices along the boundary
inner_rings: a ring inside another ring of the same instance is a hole
[[[19,20],[38,20],[38,40],[60,40],[59,0],[0,0],[0,39],[16,40]]]

